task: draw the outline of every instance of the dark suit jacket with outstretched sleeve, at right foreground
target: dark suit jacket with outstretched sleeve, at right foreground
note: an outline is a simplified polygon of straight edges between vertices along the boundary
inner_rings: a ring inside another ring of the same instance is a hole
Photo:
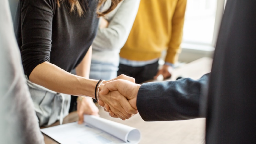
[[[255,56],[256,2],[228,0],[211,73],[143,84],[138,112],[145,121],[206,117],[207,144],[255,144]]]

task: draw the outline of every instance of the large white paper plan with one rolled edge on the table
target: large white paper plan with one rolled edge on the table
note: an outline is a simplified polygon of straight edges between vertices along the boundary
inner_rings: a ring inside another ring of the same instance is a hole
[[[137,144],[138,129],[104,118],[85,115],[85,122],[44,128],[41,131],[61,144]]]

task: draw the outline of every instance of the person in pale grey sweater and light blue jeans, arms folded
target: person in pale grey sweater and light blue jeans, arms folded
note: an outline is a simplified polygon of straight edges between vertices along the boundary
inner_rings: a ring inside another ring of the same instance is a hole
[[[111,0],[107,0],[103,10]],[[101,17],[92,43],[90,79],[111,80],[117,76],[119,52],[125,44],[135,20],[140,0],[123,0],[109,14]]]

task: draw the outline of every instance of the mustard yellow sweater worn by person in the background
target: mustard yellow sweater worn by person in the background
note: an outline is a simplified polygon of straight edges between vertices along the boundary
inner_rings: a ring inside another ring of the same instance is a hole
[[[167,50],[165,62],[175,63],[181,51],[187,0],[141,0],[120,57],[147,61]]]

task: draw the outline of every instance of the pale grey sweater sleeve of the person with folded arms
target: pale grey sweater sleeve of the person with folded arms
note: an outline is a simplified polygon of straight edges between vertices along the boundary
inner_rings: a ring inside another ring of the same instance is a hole
[[[140,0],[123,1],[106,28],[99,28],[93,49],[121,49],[130,34]]]

